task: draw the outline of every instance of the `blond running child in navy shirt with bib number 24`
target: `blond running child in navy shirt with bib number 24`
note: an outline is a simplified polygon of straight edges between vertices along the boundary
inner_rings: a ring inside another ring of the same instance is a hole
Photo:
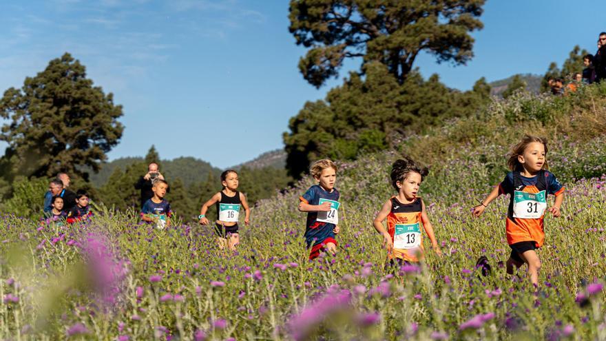
[[[317,181],[301,196],[299,211],[307,212],[305,242],[311,247],[309,259],[320,256],[320,252],[337,252],[336,235],[339,233],[339,191],[335,188],[337,165],[328,159],[316,161],[310,169]]]

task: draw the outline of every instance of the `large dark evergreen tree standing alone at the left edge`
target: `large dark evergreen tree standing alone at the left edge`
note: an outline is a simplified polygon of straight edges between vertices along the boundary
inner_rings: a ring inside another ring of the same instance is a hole
[[[79,61],[68,53],[53,59],[0,99],[0,116],[10,120],[0,134],[8,143],[10,172],[41,177],[64,171],[87,178],[81,166],[98,171],[122,136],[122,114]]]

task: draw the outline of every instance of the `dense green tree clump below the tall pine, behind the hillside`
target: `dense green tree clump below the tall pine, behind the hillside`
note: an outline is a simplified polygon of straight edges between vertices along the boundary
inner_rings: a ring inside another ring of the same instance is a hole
[[[457,117],[468,117],[490,101],[485,79],[468,92],[452,90],[436,74],[418,72],[400,85],[381,63],[369,63],[362,79],[353,72],[326,100],[305,103],[284,133],[286,168],[293,177],[317,158],[353,160],[388,149],[401,136],[422,132]]]

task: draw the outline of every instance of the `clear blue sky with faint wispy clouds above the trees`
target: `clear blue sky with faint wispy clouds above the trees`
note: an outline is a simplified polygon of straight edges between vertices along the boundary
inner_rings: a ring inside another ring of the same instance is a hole
[[[467,90],[516,73],[542,74],[574,45],[594,52],[603,3],[489,0],[466,66],[415,65]],[[126,129],[109,158],[194,156],[217,167],[282,147],[306,101],[342,83],[349,62],[320,90],[297,69],[304,48],[288,32],[286,0],[0,0],[0,90],[20,87],[70,52],[124,106]],[[0,145],[3,146],[3,145]]]

